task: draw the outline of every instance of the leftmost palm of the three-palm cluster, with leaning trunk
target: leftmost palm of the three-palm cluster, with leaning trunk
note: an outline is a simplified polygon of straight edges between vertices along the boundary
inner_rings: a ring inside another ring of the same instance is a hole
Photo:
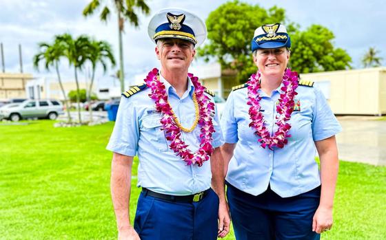
[[[39,52],[33,57],[34,68],[39,71],[39,63],[45,61],[45,69],[50,71],[51,67],[54,67],[59,81],[59,86],[64,98],[65,109],[67,111],[68,122],[71,122],[70,108],[68,107],[68,99],[65,95],[63,83],[61,82],[61,75],[59,72],[60,58],[64,56],[64,45],[60,41],[55,39],[52,45],[48,43],[39,43]]]

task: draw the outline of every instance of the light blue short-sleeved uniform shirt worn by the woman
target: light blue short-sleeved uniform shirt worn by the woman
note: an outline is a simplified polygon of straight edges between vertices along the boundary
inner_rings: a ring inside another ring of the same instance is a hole
[[[276,102],[280,88],[267,96],[261,89],[259,94],[265,126],[271,135],[277,130]],[[314,141],[336,135],[341,126],[332,113],[325,97],[316,87],[299,85],[296,89],[300,111],[292,112],[288,121],[292,128],[288,143],[283,149],[274,151],[261,147],[258,135],[250,124],[247,105],[247,87],[231,92],[221,118],[225,142],[237,143],[230,160],[226,180],[245,193],[259,195],[270,188],[281,197],[292,197],[312,190],[321,184],[321,178],[314,157]]]

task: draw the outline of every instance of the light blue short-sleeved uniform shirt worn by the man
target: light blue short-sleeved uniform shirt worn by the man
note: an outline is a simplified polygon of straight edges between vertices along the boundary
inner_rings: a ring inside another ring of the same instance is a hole
[[[174,87],[160,77],[177,118],[184,127],[192,127],[195,119],[192,81],[188,80],[187,91],[179,98]],[[210,161],[204,162],[201,167],[196,164],[187,166],[181,157],[176,156],[169,148],[165,133],[161,131],[161,113],[155,110],[155,102],[149,94],[150,88],[146,88],[129,98],[121,98],[107,149],[128,156],[137,154],[138,186],[156,193],[191,195],[210,188]],[[211,96],[210,98],[212,99]],[[212,146],[215,148],[223,144],[217,113],[213,124],[216,132],[212,134]],[[181,132],[182,139],[189,145],[188,148],[196,152],[200,146],[201,127],[197,125],[190,133]]]

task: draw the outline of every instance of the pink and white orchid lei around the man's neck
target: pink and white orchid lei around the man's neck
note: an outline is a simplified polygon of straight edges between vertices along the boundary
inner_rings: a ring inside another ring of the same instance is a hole
[[[181,129],[174,122],[172,107],[167,101],[167,94],[165,85],[159,80],[159,70],[154,68],[149,72],[145,78],[145,83],[150,87],[152,93],[149,94],[156,102],[156,111],[162,113],[161,117],[161,130],[165,131],[166,139],[170,141],[170,149],[177,153],[187,165],[197,164],[202,166],[203,162],[210,159],[212,155],[212,133],[214,133],[214,127],[212,122],[212,116],[214,116],[214,103],[210,101],[204,92],[205,87],[199,83],[199,78],[193,76],[193,74],[187,74],[194,85],[194,92],[199,104],[199,125],[201,126],[200,134],[200,148],[196,153],[192,153],[187,149],[187,144],[181,140]]]

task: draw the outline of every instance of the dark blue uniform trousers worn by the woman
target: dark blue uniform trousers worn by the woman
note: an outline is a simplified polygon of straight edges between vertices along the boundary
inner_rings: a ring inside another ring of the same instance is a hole
[[[280,197],[269,187],[254,196],[227,184],[234,234],[237,240],[317,240],[312,218],[321,187],[294,197]]]

